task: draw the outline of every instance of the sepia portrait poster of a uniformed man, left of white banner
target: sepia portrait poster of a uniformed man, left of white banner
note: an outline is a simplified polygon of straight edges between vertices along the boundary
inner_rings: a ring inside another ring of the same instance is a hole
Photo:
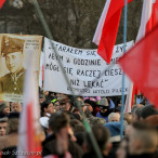
[[[23,102],[28,52],[35,53],[39,80],[42,36],[0,34],[0,101]]]

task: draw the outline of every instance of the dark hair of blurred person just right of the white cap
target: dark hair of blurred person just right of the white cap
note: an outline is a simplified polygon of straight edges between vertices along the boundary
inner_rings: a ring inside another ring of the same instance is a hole
[[[54,133],[58,132],[68,124],[69,116],[63,111],[53,113],[49,119],[49,127]]]

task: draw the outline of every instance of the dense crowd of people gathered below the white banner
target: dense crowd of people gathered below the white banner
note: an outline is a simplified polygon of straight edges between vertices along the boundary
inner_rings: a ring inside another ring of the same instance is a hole
[[[154,105],[135,104],[123,116],[110,97],[82,97],[44,92],[39,94],[41,156],[97,158],[91,130],[103,158],[157,158],[158,110]],[[0,102],[0,154],[13,158],[17,149],[23,105]],[[84,119],[84,116],[87,119]],[[91,128],[90,128],[91,127]]]

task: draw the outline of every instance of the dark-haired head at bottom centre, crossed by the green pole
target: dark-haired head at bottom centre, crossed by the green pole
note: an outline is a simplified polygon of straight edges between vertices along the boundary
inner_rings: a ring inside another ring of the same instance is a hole
[[[111,149],[111,144],[109,142],[109,131],[103,126],[95,126],[92,128],[92,131],[102,154],[107,156]],[[87,134],[87,143],[88,150],[93,152],[94,149],[89,134]]]

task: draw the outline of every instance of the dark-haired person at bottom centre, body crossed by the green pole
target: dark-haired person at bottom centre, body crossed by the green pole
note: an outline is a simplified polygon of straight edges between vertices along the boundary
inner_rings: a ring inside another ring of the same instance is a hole
[[[109,141],[109,131],[103,126],[95,126],[92,128],[94,137],[101,150],[103,158],[108,158],[108,154],[111,149],[111,143]],[[96,154],[93,147],[93,143],[90,140],[90,135],[87,134],[87,148],[88,153],[82,158],[96,158]]]

